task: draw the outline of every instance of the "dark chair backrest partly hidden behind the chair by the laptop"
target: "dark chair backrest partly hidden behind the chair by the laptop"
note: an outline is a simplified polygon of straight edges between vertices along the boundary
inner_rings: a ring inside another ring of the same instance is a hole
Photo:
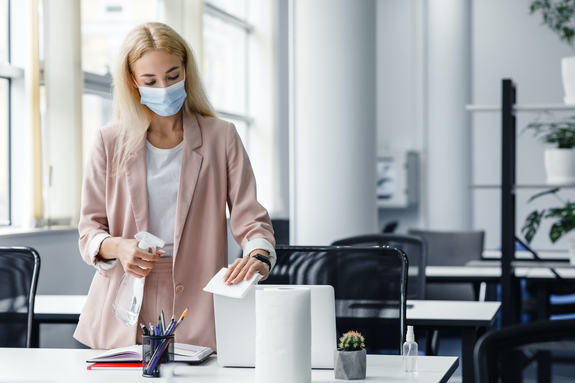
[[[407,298],[425,299],[425,266],[427,266],[427,243],[415,235],[371,234],[344,238],[332,246],[391,246],[405,252],[409,261],[407,273]],[[421,271],[421,272],[420,272]]]

